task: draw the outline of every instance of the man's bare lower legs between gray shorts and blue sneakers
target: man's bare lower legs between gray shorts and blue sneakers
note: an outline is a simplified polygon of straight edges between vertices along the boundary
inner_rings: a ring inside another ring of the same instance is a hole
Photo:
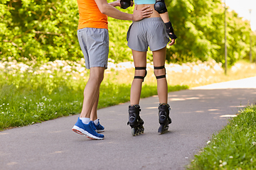
[[[104,71],[104,67],[90,68],[90,78],[85,86],[84,100],[82,103],[82,112],[80,118],[90,118],[92,108],[96,107],[97,109],[100,84],[104,78]],[[97,112],[93,112],[93,114],[97,114]],[[95,115],[92,115],[92,117],[95,118]]]

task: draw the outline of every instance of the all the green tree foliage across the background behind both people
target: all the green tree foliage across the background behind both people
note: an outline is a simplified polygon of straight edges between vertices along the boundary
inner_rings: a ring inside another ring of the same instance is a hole
[[[113,0],[110,0],[113,1]],[[109,1],[109,2],[110,2]],[[166,0],[169,18],[178,36],[168,47],[169,62],[206,61],[224,66],[224,7],[220,0]],[[119,7],[117,7],[120,9]],[[132,13],[134,7],[125,10]],[[82,57],[77,38],[78,5],[75,0],[2,0],[0,4],[0,59],[78,60]],[[132,60],[126,33],[132,21],[109,20],[110,58]],[[256,55],[256,34],[234,11],[227,11],[228,65]],[[148,59],[152,61],[151,52]]]

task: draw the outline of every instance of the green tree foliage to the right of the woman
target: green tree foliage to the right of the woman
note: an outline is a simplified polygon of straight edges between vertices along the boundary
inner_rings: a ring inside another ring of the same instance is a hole
[[[169,16],[178,39],[170,47],[169,62],[213,58],[225,65],[224,7],[220,0],[169,1]],[[252,31],[234,11],[227,11],[228,65],[248,56]],[[255,33],[252,33],[255,38]],[[253,45],[252,45],[253,46]],[[255,50],[255,49],[253,49]]]

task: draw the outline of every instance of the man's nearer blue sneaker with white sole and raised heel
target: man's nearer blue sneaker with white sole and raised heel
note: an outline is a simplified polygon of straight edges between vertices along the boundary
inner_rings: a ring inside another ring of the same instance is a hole
[[[103,140],[104,135],[98,134],[96,132],[95,126],[92,125],[92,123],[93,122],[90,121],[90,123],[84,124],[84,123],[82,123],[82,120],[80,120],[80,118],[78,118],[78,121],[77,121],[77,123],[75,123],[72,130],[74,132],[77,132],[80,135],[85,135],[86,137],[88,137],[92,140]]]

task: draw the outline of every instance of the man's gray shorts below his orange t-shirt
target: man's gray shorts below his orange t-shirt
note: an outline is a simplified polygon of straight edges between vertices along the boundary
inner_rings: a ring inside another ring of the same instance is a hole
[[[85,57],[85,67],[105,67],[109,54],[109,34],[105,28],[82,28],[78,41]]]

